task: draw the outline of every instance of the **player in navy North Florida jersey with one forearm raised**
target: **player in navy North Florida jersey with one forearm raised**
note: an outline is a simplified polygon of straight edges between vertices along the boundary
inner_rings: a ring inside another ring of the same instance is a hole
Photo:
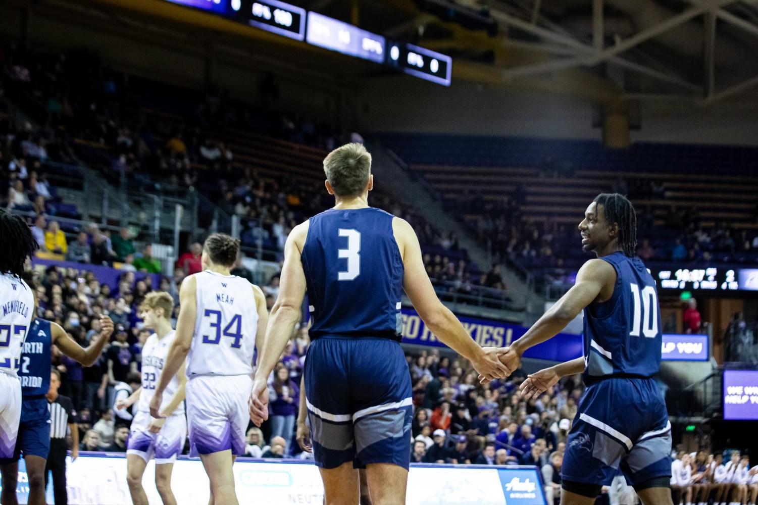
[[[25,279],[32,292],[34,283]],[[36,300],[35,300],[36,302]],[[36,305],[36,303],[35,303]],[[35,307],[36,309],[36,307]],[[45,398],[50,388],[52,356],[50,346],[55,344],[66,356],[76,359],[84,366],[92,365],[102,353],[105,343],[113,333],[113,322],[106,315],[100,316],[102,328],[86,348],[81,347],[60,325],[45,319],[35,318],[23,343],[18,378],[21,381],[21,419],[18,426],[16,450],[11,458],[0,460],[2,473],[2,505],[17,505],[16,483],[18,460],[23,454],[29,479],[30,505],[45,503],[45,464],[50,450],[50,412]],[[71,448],[76,459],[79,447]]]

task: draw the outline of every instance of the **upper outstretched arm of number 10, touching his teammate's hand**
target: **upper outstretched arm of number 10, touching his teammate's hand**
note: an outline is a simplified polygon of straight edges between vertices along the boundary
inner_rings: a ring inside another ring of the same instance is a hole
[[[513,369],[512,364],[518,365],[525,350],[555,337],[584,307],[597,299],[603,287],[612,287],[614,283],[615,270],[608,262],[590,259],[584,263],[576,275],[576,283],[568,293],[550,307],[523,337],[511,344],[511,353],[506,355],[509,368]]]

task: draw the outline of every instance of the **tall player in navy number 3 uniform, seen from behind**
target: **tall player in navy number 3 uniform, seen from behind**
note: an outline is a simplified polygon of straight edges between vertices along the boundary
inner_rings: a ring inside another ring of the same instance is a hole
[[[268,419],[274,369],[308,290],[313,324],[305,400],[325,503],[358,503],[360,468],[373,503],[405,503],[412,390],[399,346],[405,290],[439,340],[486,378],[502,378],[504,350],[481,348],[437,299],[412,227],[368,206],[371,155],[346,144],[324,159],[333,209],[296,226],[284,249],[280,291],[250,395],[250,418]]]

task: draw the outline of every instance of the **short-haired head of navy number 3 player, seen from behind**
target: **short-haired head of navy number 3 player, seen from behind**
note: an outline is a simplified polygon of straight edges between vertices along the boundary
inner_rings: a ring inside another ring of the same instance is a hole
[[[371,175],[371,154],[363,144],[340,146],[324,158],[324,174],[335,195],[342,198],[359,196]]]

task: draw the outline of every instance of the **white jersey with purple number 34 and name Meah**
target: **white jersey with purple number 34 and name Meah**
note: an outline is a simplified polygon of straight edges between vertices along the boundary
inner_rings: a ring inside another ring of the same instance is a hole
[[[252,374],[258,329],[252,284],[209,270],[195,278],[197,314],[187,377]]]

